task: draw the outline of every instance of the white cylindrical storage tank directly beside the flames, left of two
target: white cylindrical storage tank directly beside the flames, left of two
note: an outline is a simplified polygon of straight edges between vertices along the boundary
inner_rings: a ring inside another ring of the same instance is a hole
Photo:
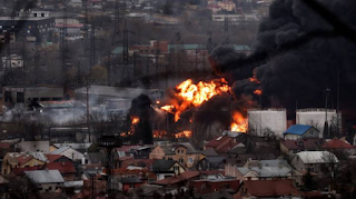
[[[268,130],[277,137],[283,137],[287,130],[286,109],[249,109],[247,110],[248,129],[257,136],[264,136]]]

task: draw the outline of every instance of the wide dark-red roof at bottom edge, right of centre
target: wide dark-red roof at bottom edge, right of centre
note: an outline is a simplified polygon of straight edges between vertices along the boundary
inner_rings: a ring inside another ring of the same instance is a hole
[[[254,197],[298,196],[299,192],[289,179],[281,180],[245,180],[247,192]]]

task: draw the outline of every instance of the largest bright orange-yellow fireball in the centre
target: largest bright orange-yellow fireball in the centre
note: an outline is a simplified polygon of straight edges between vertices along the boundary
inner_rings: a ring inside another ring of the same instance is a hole
[[[180,119],[180,113],[191,107],[199,107],[202,102],[208,101],[214,96],[229,92],[230,88],[227,81],[215,79],[209,82],[199,81],[197,84],[188,79],[176,87],[177,96],[184,101],[161,107],[167,112],[175,113],[175,121]]]

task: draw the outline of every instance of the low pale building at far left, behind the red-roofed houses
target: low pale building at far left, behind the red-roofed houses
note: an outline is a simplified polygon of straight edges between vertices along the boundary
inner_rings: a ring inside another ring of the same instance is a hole
[[[21,141],[14,145],[14,149],[20,152],[49,152],[49,141]]]

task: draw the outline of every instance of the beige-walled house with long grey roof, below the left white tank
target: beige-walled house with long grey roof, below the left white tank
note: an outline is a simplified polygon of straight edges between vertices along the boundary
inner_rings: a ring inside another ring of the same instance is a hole
[[[239,180],[288,179],[293,169],[286,160],[263,160],[257,166],[248,162],[247,167],[237,167],[236,177]]]

